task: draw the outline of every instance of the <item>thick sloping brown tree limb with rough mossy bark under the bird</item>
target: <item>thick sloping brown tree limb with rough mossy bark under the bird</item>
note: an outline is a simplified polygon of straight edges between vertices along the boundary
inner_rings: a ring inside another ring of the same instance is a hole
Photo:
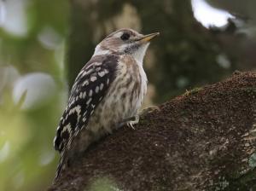
[[[256,190],[256,73],[187,91],[92,145],[58,190]]]

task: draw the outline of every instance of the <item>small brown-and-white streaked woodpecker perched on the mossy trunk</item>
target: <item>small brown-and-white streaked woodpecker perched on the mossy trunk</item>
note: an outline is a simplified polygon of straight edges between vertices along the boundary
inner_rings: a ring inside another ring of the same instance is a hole
[[[134,128],[138,123],[148,83],[143,58],[150,41],[159,34],[143,35],[124,28],[96,45],[74,81],[56,130],[54,147],[61,158],[55,182],[91,143],[120,126]]]

